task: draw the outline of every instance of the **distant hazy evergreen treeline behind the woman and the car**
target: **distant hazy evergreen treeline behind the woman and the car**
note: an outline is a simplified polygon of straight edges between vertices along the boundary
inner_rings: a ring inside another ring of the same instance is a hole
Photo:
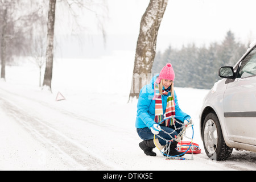
[[[210,89],[220,80],[218,69],[223,65],[233,66],[245,53],[247,45],[237,42],[232,31],[228,31],[221,43],[208,47],[195,44],[174,49],[171,46],[163,53],[157,52],[152,73],[159,73],[171,63],[175,71],[175,86]]]

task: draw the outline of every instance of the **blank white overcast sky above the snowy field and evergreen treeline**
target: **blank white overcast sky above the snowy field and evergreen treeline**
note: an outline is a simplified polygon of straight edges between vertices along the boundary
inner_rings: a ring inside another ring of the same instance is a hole
[[[102,1],[94,0],[99,3]],[[116,50],[135,51],[141,18],[150,0],[105,1],[109,16],[104,19],[107,36],[105,46],[93,14],[87,10],[78,13],[82,14],[79,22],[86,26],[83,32],[86,38],[80,39],[84,46],[82,52],[85,55],[99,55]],[[61,6],[57,7],[61,10]],[[99,15],[105,15],[102,9],[96,7]],[[169,0],[160,24],[156,51],[164,51],[168,46],[180,48],[189,43],[208,46],[209,43],[224,40],[229,30],[234,32],[237,41],[247,44],[249,40],[256,39],[255,9],[255,0]],[[61,10],[56,14],[56,32],[70,33],[71,28],[67,28],[67,24],[72,27],[72,23],[69,23],[69,18],[65,18],[68,17],[68,11]],[[68,46],[61,44],[62,47],[64,45]],[[80,44],[67,49],[73,49],[74,52],[77,46]]]

